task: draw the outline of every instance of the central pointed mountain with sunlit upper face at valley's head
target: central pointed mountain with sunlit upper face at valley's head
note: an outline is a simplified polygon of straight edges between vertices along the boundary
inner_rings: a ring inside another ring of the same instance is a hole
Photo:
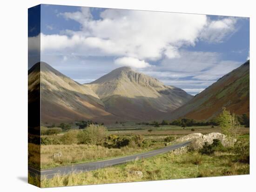
[[[99,96],[108,112],[138,121],[160,119],[193,97],[130,67],[117,68],[85,86]]]

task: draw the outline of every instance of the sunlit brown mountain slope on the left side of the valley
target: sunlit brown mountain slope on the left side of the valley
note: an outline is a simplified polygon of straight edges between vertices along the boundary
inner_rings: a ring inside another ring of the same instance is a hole
[[[30,71],[41,76],[42,124],[75,120],[112,122],[116,119],[115,115],[105,111],[104,103],[89,87],[82,86],[48,64],[38,63]],[[33,86],[29,89],[33,90]]]

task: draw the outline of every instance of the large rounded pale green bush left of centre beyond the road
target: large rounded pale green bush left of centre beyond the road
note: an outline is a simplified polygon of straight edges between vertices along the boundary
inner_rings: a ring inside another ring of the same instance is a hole
[[[81,144],[103,145],[108,136],[105,126],[90,125],[77,133],[77,139]]]

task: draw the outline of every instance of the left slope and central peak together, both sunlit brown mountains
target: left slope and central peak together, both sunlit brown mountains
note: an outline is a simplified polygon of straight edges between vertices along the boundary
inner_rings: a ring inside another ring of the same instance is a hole
[[[76,120],[104,123],[157,120],[193,97],[129,67],[117,68],[90,84],[81,85],[40,62],[29,70],[28,80],[29,94],[38,92],[40,87],[43,125]]]

